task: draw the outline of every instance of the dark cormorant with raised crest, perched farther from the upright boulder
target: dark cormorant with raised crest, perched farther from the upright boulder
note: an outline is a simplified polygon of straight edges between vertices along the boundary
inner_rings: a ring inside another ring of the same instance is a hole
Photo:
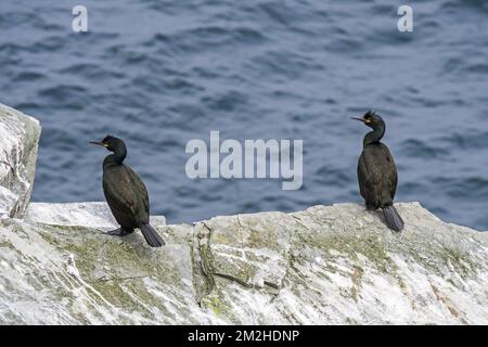
[[[367,112],[362,118],[352,119],[360,120],[373,129],[364,137],[358,163],[359,190],[367,208],[382,208],[388,228],[401,231],[403,220],[393,206],[398,181],[397,167],[388,147],[380,142],[385,134],[385,121],[372,111]]]

